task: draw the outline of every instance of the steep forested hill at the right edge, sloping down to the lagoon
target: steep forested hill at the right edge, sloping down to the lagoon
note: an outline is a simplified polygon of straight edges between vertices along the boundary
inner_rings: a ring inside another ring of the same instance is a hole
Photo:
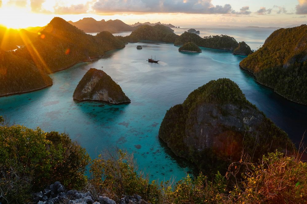
[[[240,66],[252,72],[259,83],[307,105],[307,25],[274,31]]]

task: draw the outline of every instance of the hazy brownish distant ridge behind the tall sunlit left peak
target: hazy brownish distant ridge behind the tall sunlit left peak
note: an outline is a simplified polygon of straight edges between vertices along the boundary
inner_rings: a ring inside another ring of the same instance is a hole
[[[99,33],[102,31],[109,31],[111,33],[117,33],[122,31],[132,31],[133,28],[122,22],[121,20],[100,20],[97,21],[94,18],[83,18],[76,22],[68,21],[68,23],[76,26],[87,33]]]

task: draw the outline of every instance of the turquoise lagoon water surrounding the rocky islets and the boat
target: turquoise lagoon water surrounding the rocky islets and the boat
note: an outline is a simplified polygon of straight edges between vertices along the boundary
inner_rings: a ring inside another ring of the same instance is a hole
[[[142,50],[136,46],[142,45]],[[148,63],[156,56],[159,64]],[[202,53],[178,52],[168,43],[129,43],[111,50],[103,58],[79,63],[51,74],[51,87],[0,98],[0,115],[11,123],[45,131],[66,132],[86,148],[92,158],[114,146],[134,152],[140,169],[151,179],[178,179],[188,167],[168,154],[158,139],[158,130],[167,109],[182,103],[188,94],[210,80],[234,80],[247,99],[254,103],[297,142],[307,124],[307,108],[287,101],[255,82],[239,68],[243,56],[229,51],[202,48]],[[103,68],[102,68],[103,66]],[[102,69],[131,99],[130,104],[76,102],[72,95],[90,68]]]

